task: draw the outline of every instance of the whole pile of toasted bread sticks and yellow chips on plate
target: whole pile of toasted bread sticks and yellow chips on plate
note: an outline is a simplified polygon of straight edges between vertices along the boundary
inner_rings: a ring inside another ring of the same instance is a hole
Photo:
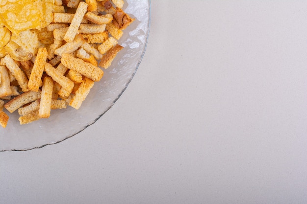
[[[53,109],[79,109],[123,48],[117,40],[134,19],[121,0],[43,0],[32,9],[40,15],[31,19],[30,12],[23,24],[18,13],[25,4],[13,1],[0,1],[1,107],[18,111],[20,124],[48,118]],[[4,10],[8,5],[14,9]],[[0,114],[5,127],[9,116]]]

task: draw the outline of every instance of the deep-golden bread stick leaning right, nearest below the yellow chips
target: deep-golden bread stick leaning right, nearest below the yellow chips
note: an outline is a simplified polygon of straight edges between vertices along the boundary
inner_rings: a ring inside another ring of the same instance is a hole
[[[35,62],[28,82],[28,88],[30,91],[38,91],[41,85],[47,55],[48,52],[46,47],[38,49],[38,53],[35,58]]]

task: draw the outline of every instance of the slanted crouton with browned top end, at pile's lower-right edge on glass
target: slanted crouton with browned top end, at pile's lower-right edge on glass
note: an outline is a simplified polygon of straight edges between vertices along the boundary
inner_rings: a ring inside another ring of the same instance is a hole
[[[94,81],[84,77],[83,82],[80,84],[80,87],[76,91],[75,96],[70,101],[69,105],[75,109],[79,109],[82,102],[85,100],[86,96],[94,86]]]

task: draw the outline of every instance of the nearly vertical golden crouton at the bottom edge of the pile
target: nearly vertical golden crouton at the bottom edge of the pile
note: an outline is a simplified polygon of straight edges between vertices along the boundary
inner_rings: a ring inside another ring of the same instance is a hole
[[[51,77],[46,76],[43,81],[42,96],[38,110],[38,115],[41,118],[50,117],[52,91],[53,91],[53,80]]]

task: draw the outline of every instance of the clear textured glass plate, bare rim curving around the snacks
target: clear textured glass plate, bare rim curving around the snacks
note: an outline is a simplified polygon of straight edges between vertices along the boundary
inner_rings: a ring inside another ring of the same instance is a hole
[[[104,76],[96,82],[79,110],[72,107],[51,110],[47,119],[20,125],[18,113],[8,113],[9,121],[0,131],[0,151],[42,148],[72,137],[108,111],[132,80],[145,53],[151,18],[150,0],[126,0],[123,8],[135,21],[124,30],[119,45],[124,46]],[[6,110],[4,110],[6,111]]]

